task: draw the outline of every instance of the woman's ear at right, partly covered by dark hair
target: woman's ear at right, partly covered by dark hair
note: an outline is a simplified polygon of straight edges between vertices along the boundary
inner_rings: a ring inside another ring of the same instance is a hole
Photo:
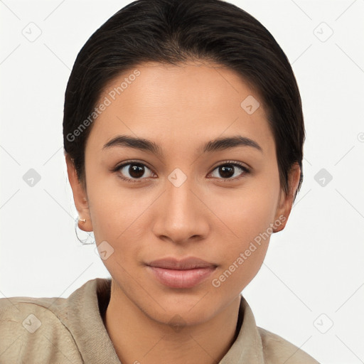
[[[291,208],[294,203],[294,195],[299,186],[299,178],[301,175],[301,168],[296,162],[289,171],[288,176],[288,193],[284,193],[281,189],[279,194],[279,203],[276,210],[275,221],[279,220],[281,224],[274,228],[273,232],[279,232],[284,229],[287,224],[289,214],[291,213]],[[284,218],[282,218],[284,216]]]

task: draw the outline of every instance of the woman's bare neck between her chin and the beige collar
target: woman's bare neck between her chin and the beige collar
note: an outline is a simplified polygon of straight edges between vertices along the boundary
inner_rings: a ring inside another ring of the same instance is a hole
[[[112,280],[104,323],[122,363],[216,364],[237,337],[240,296],[208,321],[171,328],[146,316],[114,286]]]

